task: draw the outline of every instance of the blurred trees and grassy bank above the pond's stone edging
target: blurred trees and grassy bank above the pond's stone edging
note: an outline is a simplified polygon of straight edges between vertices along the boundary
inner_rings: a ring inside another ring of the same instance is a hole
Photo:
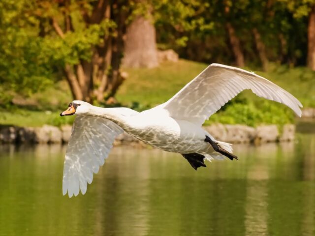
[[[1,0],[0,19],[2,124],[71,123],[43,112],[73,99],[142,111],[213,62],[255,71],[315,107],[313,0]],[[219,114],[212,121],[294,119],[250,92]]]

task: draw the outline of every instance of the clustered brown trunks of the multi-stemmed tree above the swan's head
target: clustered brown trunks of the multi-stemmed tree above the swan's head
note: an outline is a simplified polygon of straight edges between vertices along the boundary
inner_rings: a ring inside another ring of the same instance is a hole
[[[114,21],[117,27],[111,29],[114,32],[111,31],[111,33],[104,35],[101,44],[92,48],[91,61],[81,60],[75,65],[65,64],[63,71],[74,99],[90,103],[93,102],[94,98],[98,102],[107,99],[113,101],[117,89],[123,83],[124,77],[121,75],[120,65],[127,17],[126,10],[122,10],[124,4],[126,2],[122,0],[98,0],[95,2],[91,16],[83,12],[83,19],[87,27],[92,24],[100,24],[103,19]],[[53,28],[61,38],[65,37],[66,32],[75,31],[72,26],[71,15],[65,11],[63,17],[65,32],[63,32],[57,19],[51,19]]]

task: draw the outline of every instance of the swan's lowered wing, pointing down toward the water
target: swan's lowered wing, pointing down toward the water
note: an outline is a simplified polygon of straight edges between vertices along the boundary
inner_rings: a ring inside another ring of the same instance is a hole
[[[93,116],[78,116],[72,126],[63,166],[63,195],[87,191],[93,173],[104,164],[112,144],[123,129],[114,122]]]

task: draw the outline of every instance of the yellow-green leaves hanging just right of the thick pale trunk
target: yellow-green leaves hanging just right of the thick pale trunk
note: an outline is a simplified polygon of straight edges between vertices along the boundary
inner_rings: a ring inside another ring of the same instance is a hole
[[[158,42],[170,48],[187,46],[193,32],[208,34],[214,28],[210,3],[203,0],[152,0]]]

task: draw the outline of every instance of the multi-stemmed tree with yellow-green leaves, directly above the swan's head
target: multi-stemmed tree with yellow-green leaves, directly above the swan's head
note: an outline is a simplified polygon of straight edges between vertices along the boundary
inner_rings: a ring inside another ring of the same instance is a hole
[[[74,99],[98,102],[113,97],[120,73],[127,10],[123,0],[39,1],[36,18]],[[59,38],[56,38],[56,34]],[[61,52],[61,53],[60,53]]]

